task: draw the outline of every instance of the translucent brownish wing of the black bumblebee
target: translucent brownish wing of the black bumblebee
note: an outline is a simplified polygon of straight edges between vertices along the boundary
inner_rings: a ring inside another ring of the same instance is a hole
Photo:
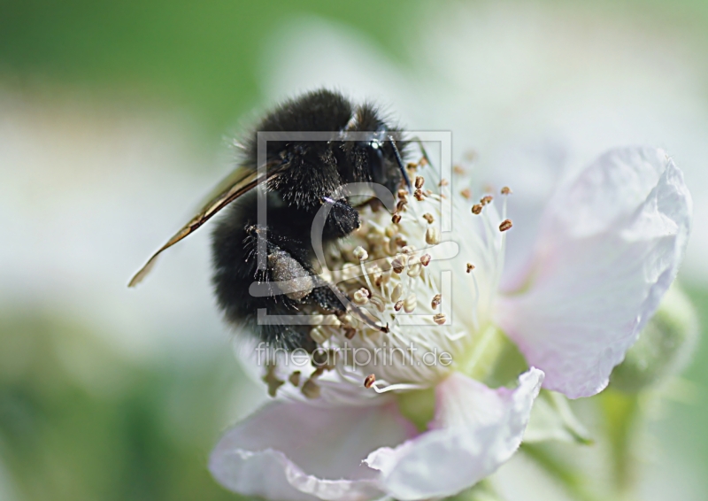
[[[266,171],[266,173],[259,173],[258,170],[251,171],[239,168],[229,174],[226,179],[219,182],[217,188],[213,190],[212,195],[208,197],[202,209],[196,213],[196,216],[181,227],[180,231],[175,233],[165,245],[160,247],[158,251],[148,259],[148,262],[142,266],[140,271],[135,274],[127,286],[135,287],[135,285],[140,283],[142,279],[150,273],[152,266],[155,266],[155,261],[163,250],[169,249],[175,243],[180,242],[186,236],[194,233],[198,227],[202,226],[207,220],[210,220],[214,214],[226,207],[227,204],[233,202],[236,198],[241,197],[244,193],[255,188],[261,182],[268,181],[281,173],[280,169],[266,168],[264,171]]]

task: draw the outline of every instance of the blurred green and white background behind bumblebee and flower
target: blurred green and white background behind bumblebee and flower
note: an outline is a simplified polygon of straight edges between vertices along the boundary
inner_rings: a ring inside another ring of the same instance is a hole
[[[702,0],[1,0],[0,499],[237,498],[206,460],[264,391],[214,307],[208,231],[126,284],[242,127],[319,85],[452,130],[532,205],[608,147],[666,148],[708,326],[706,53]],[[650,400],[639,498],[705,499],[708,346]],[[499,475],[510,498],[566,498],[523,459]]]

